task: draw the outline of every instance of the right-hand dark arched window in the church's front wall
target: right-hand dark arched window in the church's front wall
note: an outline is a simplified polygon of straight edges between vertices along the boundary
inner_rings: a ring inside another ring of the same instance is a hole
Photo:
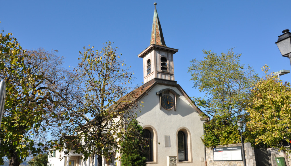
[[[187,141],[184,132],[178,132],[178,159],[179,161],[187,160]]]

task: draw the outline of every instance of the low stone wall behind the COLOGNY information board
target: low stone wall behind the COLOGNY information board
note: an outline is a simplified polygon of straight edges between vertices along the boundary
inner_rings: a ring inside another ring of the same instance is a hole
[[[241,146],[241,143],[231,144],[231,145],[219,145],[219,147],[235,147]],[[211,148],[205,148],[206,150],[206,161],[207,166],[243,166],[243,161],[214,161],[213,160],[213,151]],[[251,143],[244,143],[244,152],[246,154],[246,165],[247,166],[256,166],[255,163],[255,152],[254,148],[251,146]]]

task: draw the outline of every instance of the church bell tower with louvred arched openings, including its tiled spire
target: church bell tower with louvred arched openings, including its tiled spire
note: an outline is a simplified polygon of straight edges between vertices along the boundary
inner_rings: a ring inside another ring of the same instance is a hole
[[[157,13],[157,3],[154,5],[150,46],[138,55],[138,57],[143,58],[143,83],[152,79],[175,81],[173,54],[178,52],[178,49],[166,46]]]

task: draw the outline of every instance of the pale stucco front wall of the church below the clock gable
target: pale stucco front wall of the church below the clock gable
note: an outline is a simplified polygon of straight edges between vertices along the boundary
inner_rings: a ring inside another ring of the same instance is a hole
[[[180,94],[180,97],[177,98],[176,111],[174,111],[174,108],[171,110],[166,110],[163,107],[161,110],[159,109],[159,95],[157,95],[156,92],[166,88],[173,89]],[[143,128],[153,127],[157,132],[157,142],[154,141],[156,145],[154,151],[156,150],[157,152],[157,158],[156,161],[150,165],[166,166],[167,156],[178,156],[176,142],[177,133],[181,128],[187,129],[190,133],[188,139],[191,140],[188,140],[188,147],[190,145],[191,150],[188,152],[190,152],[191,156],[189,156],[189,162],[177,163],[177,165],[205,165],[204,145],[200,138],[203,136],[204,121],[200,121],[201,117],[194,108],[189,105],[190,103],[182,93],[176,87],[156,85],[148,92],[148,95],[141,98],[141,101],[144,102],[144,107],[141,113],[138,113],[139,117],[137,120]],[[171,147],[164,147],[164,136],[170,136]]]

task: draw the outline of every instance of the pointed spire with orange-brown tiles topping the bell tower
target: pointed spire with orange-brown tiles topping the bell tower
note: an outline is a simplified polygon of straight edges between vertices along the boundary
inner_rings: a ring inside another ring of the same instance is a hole
[[[161,23],[157,12],[157,3],[155,5],[154,20],[152,21],[152,35],[150,37],[150,44],[166,46]]]

